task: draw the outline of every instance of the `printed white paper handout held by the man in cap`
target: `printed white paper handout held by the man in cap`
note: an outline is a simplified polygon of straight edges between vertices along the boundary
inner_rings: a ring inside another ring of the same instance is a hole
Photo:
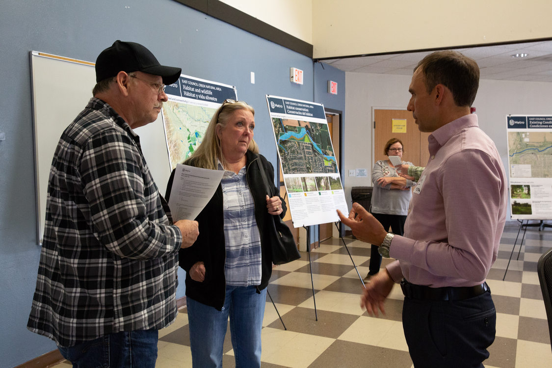
[[[177,164],[169,199],[173,220],[194,220],[215,194],[222,175],[224,170]]]

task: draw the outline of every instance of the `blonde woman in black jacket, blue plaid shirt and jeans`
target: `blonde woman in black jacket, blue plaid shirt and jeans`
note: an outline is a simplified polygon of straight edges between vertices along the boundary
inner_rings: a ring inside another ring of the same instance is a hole
[[[259,163],[270,183],[274,168],[253,141],[254,114],[245,102],[226,100],[201,145],[184,162],[225,170],[213,198],[195,218],[197,241],[179,252],[186,271],[192,365],[197,368],[222,366],[229,316],[236,367],[261,366],[261,328],[272,274],[271,234],[265,224],[270,216],[283,217],[286,208],[282,198],[266,193]],[[174,170],[168,191],[173,178]]]

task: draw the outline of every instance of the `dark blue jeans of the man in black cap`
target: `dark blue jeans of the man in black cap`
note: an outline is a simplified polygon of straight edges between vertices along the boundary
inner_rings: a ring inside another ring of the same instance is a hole
[[[58,346],[63,358],[75,368],[155,367],[157,330],[117,332],[65,348]]]

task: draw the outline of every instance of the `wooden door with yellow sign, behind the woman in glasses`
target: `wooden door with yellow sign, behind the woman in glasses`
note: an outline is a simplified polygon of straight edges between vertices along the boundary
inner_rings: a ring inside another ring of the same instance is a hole
[[[406,120],[406,130],[401,129],[404,127],[404,120]],[[391,138],[399,138],[404,147],[402,161],[410,161],[415,166],[426,166],[429,159],[428,136],[429,133],[422,133],[418,130],[411,111],[374,110],[374,162],[387,159],[384,153],[385,143]]]

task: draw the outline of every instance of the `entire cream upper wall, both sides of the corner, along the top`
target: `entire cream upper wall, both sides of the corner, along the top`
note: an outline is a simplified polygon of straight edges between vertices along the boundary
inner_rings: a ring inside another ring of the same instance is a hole
[[[550,0],[222,0],[314,46],[314,57],[552,37]]]

